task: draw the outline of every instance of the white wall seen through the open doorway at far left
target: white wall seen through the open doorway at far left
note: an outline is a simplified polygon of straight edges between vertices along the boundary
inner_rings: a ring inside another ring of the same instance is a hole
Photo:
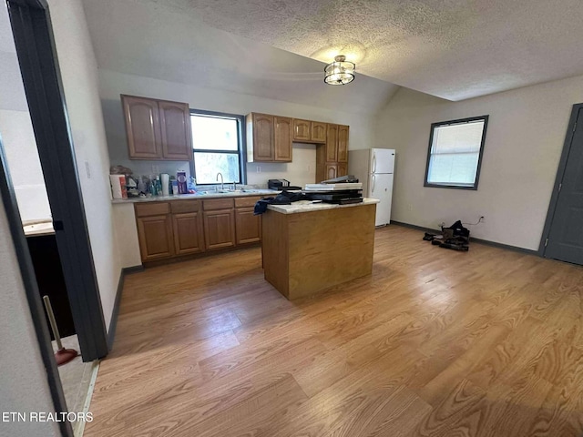
[[[50,220],[45,178],[36,150],[25,88],[20,76],[8,10],[0,6],[0,138],[5,148],[20,217],[24,222]]]

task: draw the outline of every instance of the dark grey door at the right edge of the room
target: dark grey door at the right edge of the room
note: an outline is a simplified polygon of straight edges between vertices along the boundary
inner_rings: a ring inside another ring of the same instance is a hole
[[[567,162],[548,233],[545,257],[583,265],[583,108],[564,153]]]

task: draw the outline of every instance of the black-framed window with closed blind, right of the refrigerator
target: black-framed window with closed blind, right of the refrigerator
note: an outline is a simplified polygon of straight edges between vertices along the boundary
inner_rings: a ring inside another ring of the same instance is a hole
[[[425,187],[477,189],[488,116],[431,125]]]

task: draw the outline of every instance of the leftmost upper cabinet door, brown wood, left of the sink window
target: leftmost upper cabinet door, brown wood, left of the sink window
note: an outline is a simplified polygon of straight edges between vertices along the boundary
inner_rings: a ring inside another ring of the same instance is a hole
[[[158,102],[146,97],[122,96],[130,159],[162,158]]]

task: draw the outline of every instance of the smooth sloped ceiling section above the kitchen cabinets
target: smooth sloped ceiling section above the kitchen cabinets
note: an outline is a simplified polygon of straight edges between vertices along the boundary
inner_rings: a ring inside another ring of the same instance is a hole
[[[84,0],[84,8],[101,69],[348,112],[373,113],[399,88],[367,76],[350,86],[326,86],[322,62],[165,5]]]

